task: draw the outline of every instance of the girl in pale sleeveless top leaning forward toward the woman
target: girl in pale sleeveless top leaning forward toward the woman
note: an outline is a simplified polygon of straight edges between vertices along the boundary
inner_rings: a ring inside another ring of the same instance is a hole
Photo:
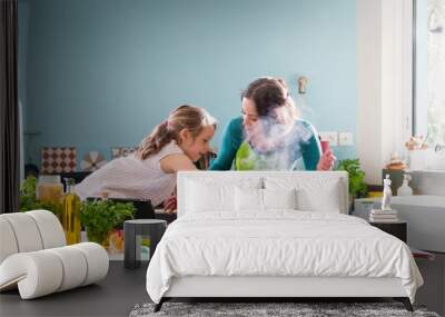
[[[216,120],[202,108],[181,106],[158,125],[138,150],[115,159],[76,186],[87,197],[150,199],[154,206],[175,190],[176,172],[196,170],[194,165],[209,151]],[[167,209],[169,207],[167,206]]]

